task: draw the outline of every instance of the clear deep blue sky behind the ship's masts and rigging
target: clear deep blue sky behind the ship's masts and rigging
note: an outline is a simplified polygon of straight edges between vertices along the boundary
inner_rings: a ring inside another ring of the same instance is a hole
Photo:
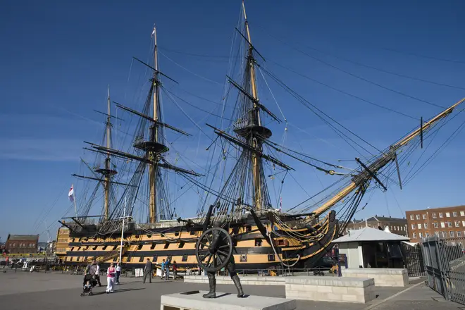
[[[247,1],[246,6],[252,40],[268,59],[266,68],[378,148],[395,142],[419,121],[306,80],[282,66],[414,118],[429,118],[440,111],[424,101],[450,106],[465,97],[465,90],[459,88],[465,88],[463,1],[273,1],[273,5],[271,1]],[[88,156],[82,151],[82,141],[99,142],[101,138],[104,120],[92,110],[105,109],[107,85],[111,85],[115,101],[140,104],[137,79],[144,68],[132,63],[132,56],[149,58],[154,23],[161,70],[178,80],[182,89],[173,87],[173,92],[202,109],[217,109],[185,91],[220,101],[239,14],[240,1],[4,1],[0,12],[2,240],[8,233],[41,233],[41,240],[46,239],[45,225],[40,223],[44,219],[54,237],[56,221],[70,209],[66,193],[76,182],[70,174],[85,173],[79,171],[80,156]],[[266,90],[266,85],[261,87]],[[354,158],[347,144],[308,110],[278,85],[270,87],[290,123],[285,140],[288,147],[302,147],[328,161]],[[261,92],[261,100],[279,113],[269,92]],[[213,122],[211,117],[179,104],[208,131],[204,123]],[[194,134],[192,140],[176,142],[176,149],[185,150],[202,166],[210,140],[173,104],[167,103],[163,109],[167,123]],[[456,120],[442,140],[464,116]],[[283,125],[273,131],[275,141],[283,140]],[[118,143],[123,136],[116,135]],[[404,190],[392,187],[387,193],[373,194],[356,218],[404,216],[410,209],[463,204],[464,135],[462,132],[448,144]],[[353,167],[354,163],[347,165]],[[309,193],[321,190],[320,180],[328,178],[309,168],[295,177]],[[297,193],[296,187],[284,188],[283,204],[297,204],[308,197],[302,191]],[[187,204],[196,197],[187,195],[180,209],[190,214],[197,202],[192,208]]]

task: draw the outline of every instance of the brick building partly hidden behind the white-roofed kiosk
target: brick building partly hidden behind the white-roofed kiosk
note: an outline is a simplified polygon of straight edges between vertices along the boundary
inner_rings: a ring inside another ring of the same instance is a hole
[[[391,233],[407,236],[407,220],[405,218],[392,218],[391,216],[378,215],[361,220],[352,219],[352,221],[347,224],[344,234],[347,234],[349,230],[362,229],[365,227],[381,228],[382,230],[388,227]]]

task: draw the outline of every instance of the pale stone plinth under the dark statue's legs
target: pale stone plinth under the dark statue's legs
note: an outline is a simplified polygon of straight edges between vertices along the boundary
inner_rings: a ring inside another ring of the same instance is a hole
[[[294,310],[293,299],[247,296],[237,298],[236,294],[216,292],[216,298],[206,299],[206,291],[192,291],[161,295],[160,310]]]

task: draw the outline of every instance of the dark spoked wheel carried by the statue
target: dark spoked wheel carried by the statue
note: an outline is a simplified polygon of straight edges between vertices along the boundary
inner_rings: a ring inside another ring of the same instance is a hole
[[[218,234],[219,244],[213,244],[213,232]],[[215,247],[215,248],[213,248]],[[213,227],[206,230],[197,244],[195,256],[201,268],[209,272],[216,272],[225,267],[233,255],[233,238],[223,228]]]

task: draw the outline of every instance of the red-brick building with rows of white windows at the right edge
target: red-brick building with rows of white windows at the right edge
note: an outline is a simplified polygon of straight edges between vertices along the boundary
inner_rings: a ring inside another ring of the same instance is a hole
[[[411,242],[420,242],[421,238],[432,235],[442,238],[465,237],[465,205],[407,211],[405,214]]]

